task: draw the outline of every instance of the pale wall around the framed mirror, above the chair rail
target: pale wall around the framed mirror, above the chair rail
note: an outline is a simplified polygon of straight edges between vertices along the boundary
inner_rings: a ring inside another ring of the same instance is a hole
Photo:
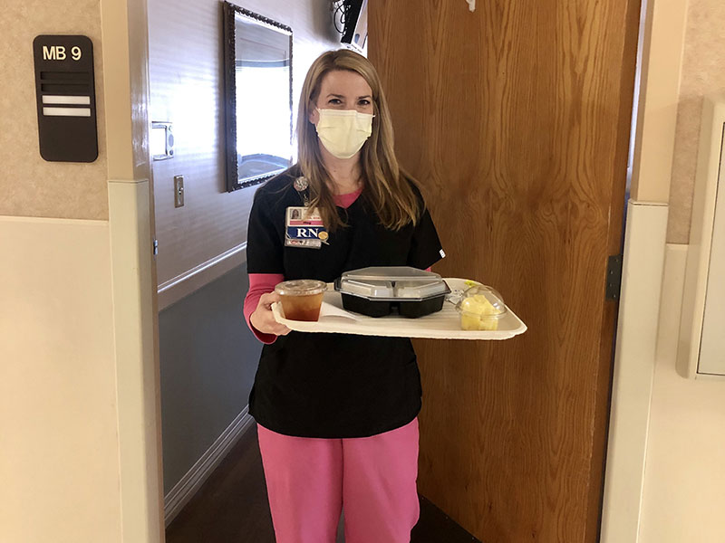
[[[324,0],[240,3],[292,27],[293,93],[310,63],[337,47]],[[151,120],[173,123],[175,157],[153,163],[159,284],[247,241],[256,188],[226,192],[221,4],[149,0]],[[173,177],[184,176],[183,207],[174,207]],[[213,275],[209,278],[213,279]]]

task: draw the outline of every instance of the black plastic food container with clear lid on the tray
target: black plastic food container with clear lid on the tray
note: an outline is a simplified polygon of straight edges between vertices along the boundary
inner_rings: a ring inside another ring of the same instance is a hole
[[[334,288],[341,293],[345,310],[368,317],[385,317],[397,310],[411,319],[440,311],[450,292],[438,273],[407,266],[345,271]]]

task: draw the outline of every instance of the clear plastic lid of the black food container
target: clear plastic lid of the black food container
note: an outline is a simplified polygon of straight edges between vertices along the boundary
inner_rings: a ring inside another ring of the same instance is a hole
[[[368,300],[427,300],[449,292],[438,273],[408,266],[345,271],[335,289]]]

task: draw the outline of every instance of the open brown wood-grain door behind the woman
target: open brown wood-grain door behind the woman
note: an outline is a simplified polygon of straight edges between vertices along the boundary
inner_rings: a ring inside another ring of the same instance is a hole
[[[420,491],[484,543],[598,537],[639,0],[370,2],[401,164],[443,276],[528,331],[420,341]]]

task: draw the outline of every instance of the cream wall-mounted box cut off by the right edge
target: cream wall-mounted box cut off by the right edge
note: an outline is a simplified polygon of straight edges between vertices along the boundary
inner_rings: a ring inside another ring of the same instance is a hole
[[[725,379],[725,93],[702,106],[678,371]]]

